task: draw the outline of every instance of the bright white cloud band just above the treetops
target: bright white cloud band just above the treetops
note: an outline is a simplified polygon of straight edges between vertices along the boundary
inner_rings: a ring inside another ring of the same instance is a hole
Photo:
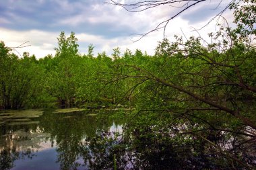
[[[181,27],[187,37],[196,35],[196,32],[191,32],[193,29],[189,26],[187,21],[177,18],[174,19],[173,23],[175,23],[175,26],[170,24],[166,30],[166,36],[168,36],[168,38],[172,39],[174,34],[183,36]],[[214,26],[214,24],[210,24],[208,29],[214,28]],[[29,52],[30,54],[35,54],[37,58],[42,58],[47,54],[55,54],[54,47],[57,47],[57,37],[59,36],[59,32],[42,32],[40,30],[19,32],[4,28],[0,28],[0,32],[2,33],[0,34],[0,40],[3,40],[7,46],[19,46],[20,44],[29,41],[28,44],[31,46],[26,48],[17,48],[20,54],[23,52]],[[204,37],[207,35],[207,32],[207,29],[201,31]],[[66,32],[66,36],[68,36],[68,34],[69,33]],[[124,52],[126,48],[129,48],[133,52],[136,49],[140,49],[142,52],[147,51],[148,54],[154,54],[154,49],[156,48],[158,41],[162,40],[163,35],[162,31],[152,32],[138,42],[133,42],[131,39],[136,40],[138,37],[133,38],[132,36],[104,38],[103,36],[82,33],[75,34],[75,37],[78,38],[79,52],[82,54],[87,52],[87,47],[89,44],[94,44],[95,55],[98,52],[103,51],[110,55],[113,52],[113,48],[116,48],[117,46],[121,48],[121,52]]]

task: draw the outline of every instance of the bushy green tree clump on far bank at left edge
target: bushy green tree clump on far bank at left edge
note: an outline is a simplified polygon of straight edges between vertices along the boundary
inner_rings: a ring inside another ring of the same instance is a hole
[[[11,54],[3,42],[0,43],[0,101],[1,108],[20,109],[37,107],[42,94],[42,69],[34,56],[24,53],[24,58]]]

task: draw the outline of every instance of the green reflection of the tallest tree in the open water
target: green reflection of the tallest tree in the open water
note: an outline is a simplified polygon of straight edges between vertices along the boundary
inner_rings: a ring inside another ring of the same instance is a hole
[[[109,116],[88,116],[85,112],[45,113],[41,124],[44,132],[51,134],[52,143],[56,142],[57,162],[61,169],[78,169],[87,166],[90,151],[86,140],[93,138],[98,130],[109,130],[113,120]],[[86,159],[82,159],[85,157]],[[86,160],[86,161],[83,161]]]

